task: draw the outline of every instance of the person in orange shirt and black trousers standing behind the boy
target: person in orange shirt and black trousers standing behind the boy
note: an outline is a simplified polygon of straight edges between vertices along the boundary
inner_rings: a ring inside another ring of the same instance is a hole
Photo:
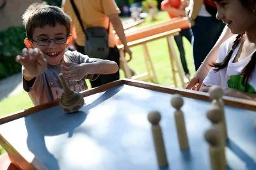
[[[115,29],[116,34],[119,36],[121,42],[124,44],[124,50],[132,57],[132,52],[127,46],[124,28],[122,22],[118,16],[120,13],[119,8],[116,6],[114,0],[76,0],[74,1],[76,8],[80,13],[83,26],[86,27],[97,27],[103,26],[106,29],[109,28],[109,55],[106,59],[115,61],[119,66],[120,54],[116,47],[115,35],[113,34],[113,29]],[[72,33],[76,33],[75,46],[78,52],[84,54],[84,45],[86,42],[84,40],[84,32],[77,19],[76,13],[72,8],[70,0],[62,1],[62,8],[72,18]],[[100,75],[95,81],[90,81],[92,88],[106,84],[108,82],[116,81],[119,79],[119,72],[110,75]]]

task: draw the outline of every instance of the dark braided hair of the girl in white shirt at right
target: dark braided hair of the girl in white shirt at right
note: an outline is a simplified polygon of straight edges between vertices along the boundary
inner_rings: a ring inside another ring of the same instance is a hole
[[[212,0],[216,2],[220,2],[222,0]],[[247,8],[250,12],[255,13],[256,8],[256,1],[255,0],[240,0],[241,4]],[[226,68],[228,65],[229,60],[231,59],[231,56],[236,49],[237,45],[241,42],[241,38],[243,37],[244,33],[241,33],[240,35],[236,36],[236,40],[233,42],[233,45],[228,52],[228,55],[223,59],[220,63],[212,63],[210,66],[214,67],[214,71],[218,72],[223,68]],[[250,62],[244,67],[244,69],[241,72],[241,75],[243,75],[242,84],[245,86],[245,91],[248,91],[248,81],[250,76],[252,75],[253,70],[255,69],[256,65],[256,52],[253,53],[252,58],[250,59]]]

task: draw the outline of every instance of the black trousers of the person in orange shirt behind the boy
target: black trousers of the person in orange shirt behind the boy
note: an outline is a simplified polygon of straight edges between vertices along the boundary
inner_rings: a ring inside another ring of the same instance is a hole
[[[109,55],[106,59],[115,61],[118,67],[120,66],[120,54],[116,47],[109,48]],[[106,84],[108,82],[117,81],[118,79],[119,79],[119,71],[116,73],[108,74],[108,75],[99,75],[99,77],[95,81],[90,81],[90,82],[92,84],[92,88],[95,88],[97,86]]]

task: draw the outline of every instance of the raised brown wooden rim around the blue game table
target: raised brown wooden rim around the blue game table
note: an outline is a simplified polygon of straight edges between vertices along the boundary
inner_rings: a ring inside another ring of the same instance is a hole
[[[102,91],[106,91],[106,89],[113,88],[115,86],[125,85],[125,84],[129,85],[129,86],[135,86],[138,88],[160,91],[160,92],[168,93],[168,94],[180,94],[184,97],[195,98],[198,100],[211,101],[211,98],[209,97],[208,93],[204,93],[204,92],[200,92],[200,91],[191,91],[188,89],[170,88],[167,86],[161,86],[158,84],[152,84],[149,82],[141,82],[141,81],[136,81],[136,80],[131,80],[131,79],[122,79],[119,81],[104,84],[97,88],[82,91],[81,94],[83,95],[83,97],[87,97],[87,96],[93,95],[95,93],[100,93]],[[225,105],[232,105],[234,107],[240,107],[243,109],[256,111],[256,102],[253,100],[244,100],[244,99],[233,98],[233,97],[223,97],[223,100],[225,102]],[[31,107],[29,109],[26,109],[24,111],[20,111],[20,112],[8,115],[4,118],[0,118],[0,125],[3,123],[7,123],[9,121],[12,121],[12,120],[22,118],[24,116],[28,116],[29,114],[33,114],[33,112],[42,111],[44,109],[53,107],[54,105],[58,105],[58,104],[59,104],[59,100],[54,100],[54,102],[49,102],[47,104],[38,105],[35,107]],[[4,141],[1,141],[1,142],[4,143]],[[8,143],[7,141],[5,141],[5,142]],[[3,148],[7,151],[7,153],[9,153],[8,155],[10,157],[10,160],[16,167],[19,167],[20,164],[22,164],[22,165],[28,164],[27,160],[25,160],[24,158],[22,159],[22,158],[18,157],[17,155],[10,154],[10,153],[15,153],[15,151],[13,151],[13,148],[9,148],[8,146],[6,146],[6,143],[4,143]],[[15,154],[19,155],[19,153],[15,153]]]

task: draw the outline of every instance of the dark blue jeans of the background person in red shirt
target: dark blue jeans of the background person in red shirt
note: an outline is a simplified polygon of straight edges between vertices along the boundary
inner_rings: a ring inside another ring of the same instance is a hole
[[[189,71],[188,71],[188,66],[187,66],[187,63],[186,63],[186,58],[185,58],[185,50],[184,50],[184,46],[183,46],[183,40],[182,40],[182,37],[185,36],[188,41],[191,43],[192,41],[192,31],[190,28],[188,29],[182,29],[180,31],[180,34],[177,35],[177,36],[174,36],[174,40],[177,44],[177,47],[179,49],[179,52],[180,52],[180,61],[181,61],[181,64],[182,64],[182,67],[183,67],[183,70],[185,72],[185,74],[189,74]]]

